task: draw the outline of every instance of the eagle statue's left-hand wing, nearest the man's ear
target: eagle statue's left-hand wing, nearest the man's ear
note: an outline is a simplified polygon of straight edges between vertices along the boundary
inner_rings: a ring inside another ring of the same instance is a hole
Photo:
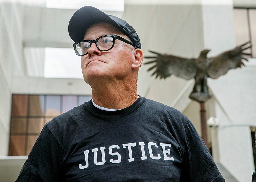
[[[144,64],[154,63],[154,66],[150,67],[148,71],[155,69],[153,75],[156,75],[156,78],[160,76],[161,78],[167,78],[174,74],[177,77],[184,79],[191,79],[196,76],[197,66],[196,59],[191,58],[182,58],[174,55],[160,54],[157,52],[149,51],[156,56],[145,56],[145,58],[154,58],[155,60],[146,62]]]

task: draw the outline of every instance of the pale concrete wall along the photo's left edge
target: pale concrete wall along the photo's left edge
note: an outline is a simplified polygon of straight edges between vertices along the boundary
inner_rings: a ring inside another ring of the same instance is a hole
[[[23,5],[0,3],[0,156],[8,154],[12,78],[24,76]]]

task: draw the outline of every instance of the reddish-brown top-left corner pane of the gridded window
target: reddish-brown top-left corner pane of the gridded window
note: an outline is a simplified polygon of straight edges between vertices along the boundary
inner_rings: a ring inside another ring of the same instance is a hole
[[[12,95],[12,115],[27,116],[28,95]]]

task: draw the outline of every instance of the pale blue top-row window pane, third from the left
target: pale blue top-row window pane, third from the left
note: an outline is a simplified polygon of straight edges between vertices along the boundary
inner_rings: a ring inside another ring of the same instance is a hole
[[[45,104],[45,116],[55,117],[60,115],[60,95],[47,95]]]

